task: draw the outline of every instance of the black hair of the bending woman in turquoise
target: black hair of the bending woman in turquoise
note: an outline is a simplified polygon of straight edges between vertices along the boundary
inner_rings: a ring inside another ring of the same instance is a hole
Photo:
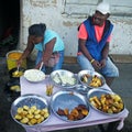
[[[46,24],[44,23],[33,24],[29,28],[29,35],[44,36]]]

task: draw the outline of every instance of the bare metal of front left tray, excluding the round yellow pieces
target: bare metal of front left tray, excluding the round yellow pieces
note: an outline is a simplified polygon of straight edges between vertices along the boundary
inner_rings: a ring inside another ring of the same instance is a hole
[[[51,114],[50,112],[50,107],[48,107],[48,103],[46,101],[45,98],[38,96],[38,95],[24,95],[24,96],[21,96],[19,98],[16,98],[12,106],[11,106],[11,110],[10,110],[10,113],[11,113],[11,117],[13,118],[13,120],[23,125],[23,127],[36,127],[45,121],[47,121],[47,119],[45,119],[44,121],[42,121],[41,123],[37,123],[37,124],[34,124],[34,125],[29,125],[29,124],[24,124],[24,123],[21,123],[20,121],[18,121],[14,116],[16,114],[16,111],[18,111],[18,108],[22,108],[23,106],[29,106],[29,107],[32,107],[32,106],[36,106],[37,109],[44,109],[44,108],[47,108],[48,109],[48,113]]]

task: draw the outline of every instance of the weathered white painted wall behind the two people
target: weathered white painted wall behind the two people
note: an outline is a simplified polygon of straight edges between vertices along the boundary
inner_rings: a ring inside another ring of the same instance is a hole
[[[22,0],[20,48],[26,47],[28,28],[46,23],[65,42],[66,56],[76,56],[77,26],[92,14],[101,0]],[[132,0],[106,0],[111,4],[110,20],[114,24],[110,54],[132,55]],[[34,51],[34,55],[35,55]]]

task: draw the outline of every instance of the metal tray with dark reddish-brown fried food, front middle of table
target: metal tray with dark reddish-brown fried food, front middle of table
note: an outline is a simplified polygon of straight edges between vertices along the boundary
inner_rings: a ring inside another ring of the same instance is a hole
[[[77,122],[89,116],[89,106],[85,96],[72,90],[54,94],[51,108],[55,116],[64,121]]]

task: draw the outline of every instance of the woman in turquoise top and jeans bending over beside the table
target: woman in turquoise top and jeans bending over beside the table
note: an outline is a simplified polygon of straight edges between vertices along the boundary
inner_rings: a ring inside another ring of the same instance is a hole
[[[46,66],[50,66],[51,56],[56,58],[53,70],[62,68],[64,62],[64,42],[56,32],[47,30],[44,23],[33,24],[29,28],[28,46],[18,61],[18,65],[22,64],[22,61],[31,54],[34,47],[38,51],[35,68],[40,68],[43,65],[42,70],[45,73]]]

